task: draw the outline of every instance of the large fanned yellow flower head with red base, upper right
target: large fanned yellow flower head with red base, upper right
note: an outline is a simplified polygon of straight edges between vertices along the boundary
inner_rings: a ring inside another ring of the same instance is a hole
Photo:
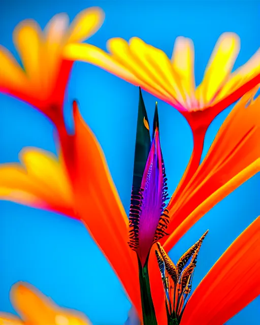
[[[128,43],[121,38],[112,38],[108,40],[107,48],[110,53],[85,44],[69,44],[64,49],[64,56],[70,60],[92,63],[140,86],[181,111],[192,129],[204,127],[205,123],[208,127],[218,113],[260,82],[257,59],[252,59],[246,69],[239,72],[240,76],[236,77],[239,83],[236,86],[235,81],[231,81],[236,76],[231,71],[240,48],[239,37],[232,32],[220,36],[204,80],[197,89],[194,81],[194,49],[189,39],[176,39],[172,64],[163,51],[137,37]],[[241,78],[241,75],[246,76]],[[210,113],[205,113],[203,118],[186,114],[205,109],[210,110]]]

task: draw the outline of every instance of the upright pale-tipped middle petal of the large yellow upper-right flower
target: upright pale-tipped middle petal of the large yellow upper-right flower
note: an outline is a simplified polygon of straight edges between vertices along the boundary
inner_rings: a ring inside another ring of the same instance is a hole
[[[195,98],[194,46],[184,37],[177,37],[172,55],[172,66],[180,79],[181,93],[188,109],[198,106]]]

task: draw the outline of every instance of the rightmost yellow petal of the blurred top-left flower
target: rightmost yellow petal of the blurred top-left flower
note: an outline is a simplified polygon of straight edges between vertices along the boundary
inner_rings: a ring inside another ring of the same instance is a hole
[[[104,12],[99,7],[81,11],[70,26],[68,43],[83,42],[88,39],[101,27],[104,19]]]

